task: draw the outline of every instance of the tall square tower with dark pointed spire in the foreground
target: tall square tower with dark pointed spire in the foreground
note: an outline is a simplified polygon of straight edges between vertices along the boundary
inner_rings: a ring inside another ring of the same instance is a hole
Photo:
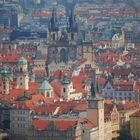
[[[87,99],[87,118],[98,126],[98,140],[104,140],[104,99],[97,92],[96,72],[94,70],[94,81],[91,82],[90,95]]]

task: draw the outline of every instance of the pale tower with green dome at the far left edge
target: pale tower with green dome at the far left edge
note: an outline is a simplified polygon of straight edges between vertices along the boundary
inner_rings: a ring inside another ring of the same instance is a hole
[[[10,72],[4,68],[1,72],[2,77],[2,94],[7,95],[9,94],[9,78]]]

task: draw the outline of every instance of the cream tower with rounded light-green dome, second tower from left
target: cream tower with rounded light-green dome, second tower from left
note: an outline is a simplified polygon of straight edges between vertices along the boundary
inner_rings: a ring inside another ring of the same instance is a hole
[[[28,63],[24,57],[18,60],[17,88],[29,89]]]

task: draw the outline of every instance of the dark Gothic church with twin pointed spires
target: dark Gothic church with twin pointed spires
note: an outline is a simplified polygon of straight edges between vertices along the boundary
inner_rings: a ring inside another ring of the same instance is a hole
[[[66,28],[59,29],[56,25],[56,14],[53,10],[48,28],[48,64],[67,63],[82,58],[82,45],[78,40],[78,26],[71,12]]]

